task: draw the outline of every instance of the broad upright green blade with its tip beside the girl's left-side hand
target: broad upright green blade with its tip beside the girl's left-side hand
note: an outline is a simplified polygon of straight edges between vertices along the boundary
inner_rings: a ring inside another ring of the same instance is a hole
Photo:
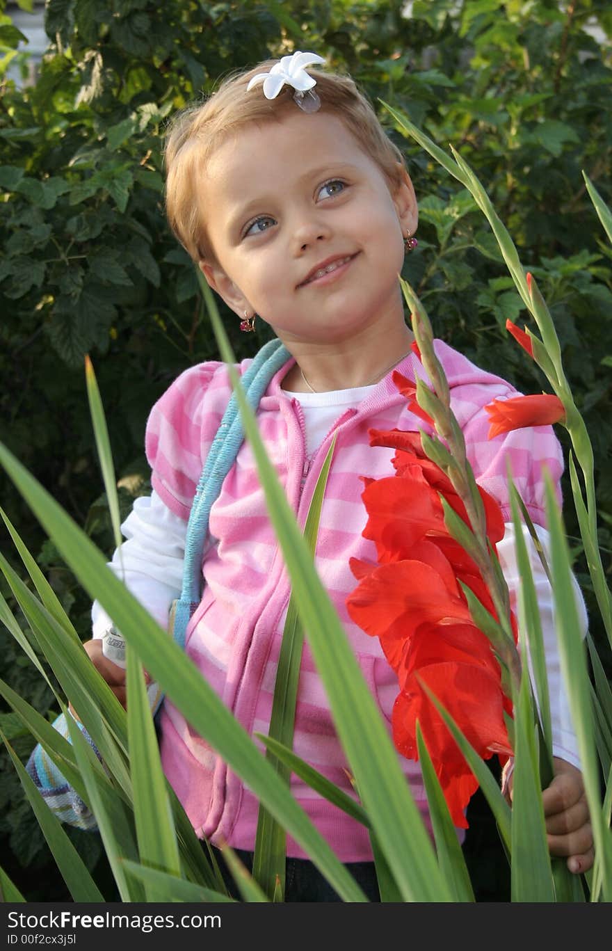
[[[143,666],[127,646],[127,741],[132,779],[134,820],[142,864],[179,876],[181,862],[166,780],[160,762],[153,717],[144,685]],[[147,901],[163,896],[145,885]]]

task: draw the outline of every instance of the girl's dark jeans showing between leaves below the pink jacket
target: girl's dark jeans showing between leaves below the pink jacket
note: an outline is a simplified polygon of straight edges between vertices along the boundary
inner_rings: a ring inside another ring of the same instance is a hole
[[[204,851],[207,851],[204,845]],[[239,899],[239,891],[223,861],[219,849],[213,849],[219,863],[223,880],[232,898]],[[236,849],[236,854],[249,871],[253,868],[253,852]],[[376,872],[373,862],[349,862],[345,864],[355,882],[362,888],[370,902],[380,902]],[[285,865],[285,902],[341,902],[332,885],[321,875],[316,865],[308,859],[287,859]]]

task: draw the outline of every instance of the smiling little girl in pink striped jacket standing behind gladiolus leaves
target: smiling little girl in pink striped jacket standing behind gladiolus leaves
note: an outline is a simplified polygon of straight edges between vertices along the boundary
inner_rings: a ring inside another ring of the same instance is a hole
[[[414,379],[398,283],[415,241],[417,204],[401,153],[346,76],[310,68],[310,53],[266,62],[225,81],[174,122],[166,147],[167,215],[210,286],[245,330],[264,320],[291,358],[258,404],[258,424],[300,524],[335,437],[322,507],[316,568],[330,592],[363,674],[389,723],[395,674],[375,638],[351,621],[352,557],[375,561],[362,535],[361,476],[392,475],[392,450],[371,448],[372,428],[416,431],[422,421],[392,383],[392,369]],[[309,68],[306,71],[306,68]],[[549,427],[488,441],[484,406],[515,395],[436,341],[479,483],[508,515],[506,463],[521,456],[520,490],[538,526],[544,521],[543,466],[558,480],[563,462]],[[244,373],[250,360],[239,365]],[[186,370],[154,406],[146,429],[153,493],[124,523],[125,582],[163,625],[181,589],[185,526],[203,460],[231,396],[225,365]],[[541,528],[543,539],[545,529]],[[511,526],[499,546],[510,590],[518,572]],[[113,566],[118,569],[117,556]],[[544,793],[550,851],[573,871],[592,863],[576,741],[561,681],[551,592],[534,561],[554,719],[556,777]],[[290,582],[268,519],[251,447],[243,443],[214,503],[202,564],[203,595],[185,650],[250,733],[266,732]],[[579,595],[580,598],[580,595]],[[124,671],[107,660],[102,637],[112,622],[93,609],[86,650],[124,702]],[[213,844],[252,853],[258,801],[168,700],[160,716],[164,771],[194,828]],[[296,705],[296,754],[352,792],[327,697],[305,646]],[[401,759],[427,818],[417,763]],[[292,791],[339,858],[375,897],[367,830],[292,777]],[[334,900],[291,840],[287,900]],[[294,882],[292,891],[292,881]]]

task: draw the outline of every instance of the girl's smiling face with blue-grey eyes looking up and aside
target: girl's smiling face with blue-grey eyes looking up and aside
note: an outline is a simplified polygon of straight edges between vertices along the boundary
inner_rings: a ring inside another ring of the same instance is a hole
[[[241,129],[213,152],[199,201],[215,257],[201,262],[207,281],[290,348],[404,320],[397,277],[417,222],[411,181],[405,174],[392,195],[334,115],[296,107]]]

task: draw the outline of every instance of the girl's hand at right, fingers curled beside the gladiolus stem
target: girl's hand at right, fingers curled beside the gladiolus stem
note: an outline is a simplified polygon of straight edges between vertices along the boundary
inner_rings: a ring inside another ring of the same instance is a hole
[[[567,857],[570,872],[587,872],[593,864],[593,833],[584,795],[583,774],[577,767],[553,757],[554,777],[542,792],[548,849],[551,855]],[[512,779],[506,797],[512,802]]]

